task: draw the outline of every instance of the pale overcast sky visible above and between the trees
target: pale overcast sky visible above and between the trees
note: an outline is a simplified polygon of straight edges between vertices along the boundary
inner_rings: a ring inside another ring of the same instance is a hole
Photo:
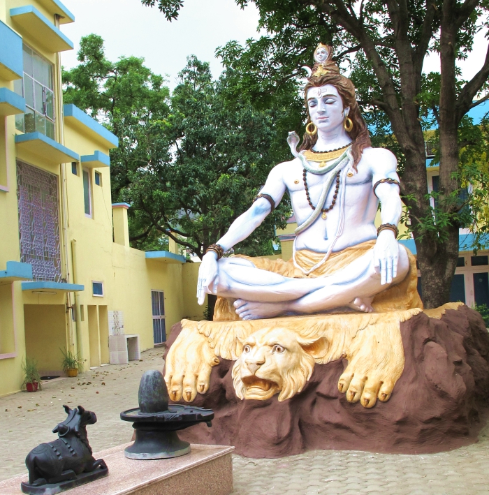
[[[173,22],[168,22],[157,8],[142,6],[140,0],[62,1],[75,15],[75,22],[61,26],[75,44],[75,50],[61,54],[65,67],[78,64],[80,38],[96,33],[105,40],[108,59],[115,61],[122,55],[143,57],[154,73],[168,74],[172,89],[188,55],[210,62],[215,77],[221,73],[221,64],[214,58],[218,46],[229,40],[244,44],[247,38],[258,36],[258,11],[254,5],[241,10],[233,0],[184,0],[178,20]],[[487,46],[481,31],[476,35],[474,52],[459,64],[466,79],[481,68]],[[439,71],[436,55],[427,57],[424,70]]]

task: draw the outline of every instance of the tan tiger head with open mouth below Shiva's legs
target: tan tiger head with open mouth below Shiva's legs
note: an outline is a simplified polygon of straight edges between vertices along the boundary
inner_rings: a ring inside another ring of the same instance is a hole
[[[265,400],[279,393],[279,401],[300,392],[311,378],[314,359],[326,354],[327,341],[303,339],[284,328],[263,328],[242,341],[233,366],[240,399]]]

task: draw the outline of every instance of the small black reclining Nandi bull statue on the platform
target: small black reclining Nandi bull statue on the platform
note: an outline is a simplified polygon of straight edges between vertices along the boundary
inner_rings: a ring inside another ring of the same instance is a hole
[[[24,494],[53,495],[108,475],[103,459],[92,456],[87,424],[96,423],[96,415],[82,406],[63,406],[68,418],[52,432],[58,439],[41,443],[25,459],[29,483],[22,482]]]

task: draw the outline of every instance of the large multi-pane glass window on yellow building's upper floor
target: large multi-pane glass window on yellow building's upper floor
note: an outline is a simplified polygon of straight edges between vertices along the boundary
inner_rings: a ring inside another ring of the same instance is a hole
[[[15,115],[15,128],[36,131],[54,139],[54,85],[52,64],[27,45],[23,46],[24,77],[14,82],[15,92],[25,98],[26,112]]]

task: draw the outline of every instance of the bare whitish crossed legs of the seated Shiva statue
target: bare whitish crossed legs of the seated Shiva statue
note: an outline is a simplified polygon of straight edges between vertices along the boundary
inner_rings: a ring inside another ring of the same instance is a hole
[[[381,285],[373,250],[337,272],[316,279],[291,279],[256,268],[249,260],[219,261],[217,295],[236,299],[236,313],[243,320],[272,318],[283,314],[307,314],[350,306],[372,311],[374,295],[400,283],[409,272],[409,258],[400,246],[397,276]]]

